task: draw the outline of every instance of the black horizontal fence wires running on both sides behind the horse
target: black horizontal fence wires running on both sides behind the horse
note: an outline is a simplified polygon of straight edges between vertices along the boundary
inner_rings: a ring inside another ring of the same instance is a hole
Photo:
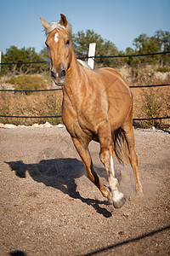
[[[86,56],[80,57],[79,59],[88,59],[88,58],[125,58],[125,57],[140,57],[140,56],[149,56],[149,55],[165,55],[169,54],[170,51],[167,52],[159,52],[159,53],[150,53],[150,54],[141,54],[141,55],[109,55],[109,56]],[[48,63],[48,61],[30,61],[30,62],[9,62],[9,63],[1,63],[1,65],[13,65],[13,64],[37,64],[37,63]],[[152,85],[140,85],[135,86],[131,85],[130,88],[147,88],[147,87],[161,87],[161,86],[169,86],[170,84],[152,84]],[[0,91],[13,91],[13,92],[38,92],[38,91],[53,91],[53,90],[62,90],[62,89],[48,89],[48,90],[0,90]],[[1,118],[31,118],[31,119],[49,119],[49,118],[61,118],[61,115],[50,115],[50,116],[17,116],[17,115],[1,115]],[[133,119],[133,121],[142,121],[142,120],[156,120],[156,119],[170,119],[170,116],[166,117],[157,117],[157,118],[140,118]]]

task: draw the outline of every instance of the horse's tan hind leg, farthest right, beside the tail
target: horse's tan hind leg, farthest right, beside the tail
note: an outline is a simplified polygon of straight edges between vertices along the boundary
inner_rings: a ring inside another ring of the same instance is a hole
[[[139,172],[138,172],[138,157],[134,149],[134,134],[133,134],[133,124],[132,119],[127,121],[123,125],[123,130],[125,131],[125,137],[127,140],[127,146],[129,150],[129,161],[133,168],[135,183],[136,183],[136,191],[138,194],[143,193],[142,185],[139,181]]]

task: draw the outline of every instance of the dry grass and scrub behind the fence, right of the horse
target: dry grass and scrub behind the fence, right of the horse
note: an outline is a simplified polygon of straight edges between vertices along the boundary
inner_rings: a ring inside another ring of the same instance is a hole
[[[155,79],[151,76],[143,76],[133,80],[132,85],[142,84],[170,84],[170,77],[167,79]],[[133,118],[158,118],[170,116],[170,90],[167,87],[149,87],[132,89],[134,96]],[[139,121],[143,128],[169,127],[169,119],[156,119]]]

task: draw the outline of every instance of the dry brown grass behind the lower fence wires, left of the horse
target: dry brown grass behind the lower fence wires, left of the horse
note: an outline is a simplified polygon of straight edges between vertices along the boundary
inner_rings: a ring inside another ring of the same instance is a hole
[[[55,116],[61,115],[62,93],[61,91],[34,92],[31,95],[14,92],[1,92],[0,113],[2,115],[17,116]],[[14,125],[43,124],[48,120],[52,125],[62,123],[61,118],[50,119],[19,119],[0,118],[0,123]]]

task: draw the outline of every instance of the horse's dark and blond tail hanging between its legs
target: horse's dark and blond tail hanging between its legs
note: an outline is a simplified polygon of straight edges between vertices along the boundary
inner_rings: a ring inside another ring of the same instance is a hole
[[[118,128],[112,133],[112,138],[117,160],[119,160],[119,162],[122,164],[124,164],[124,160],[127,160],[127,162],[129,162],[130,153],[125,131],[121,127]]]

